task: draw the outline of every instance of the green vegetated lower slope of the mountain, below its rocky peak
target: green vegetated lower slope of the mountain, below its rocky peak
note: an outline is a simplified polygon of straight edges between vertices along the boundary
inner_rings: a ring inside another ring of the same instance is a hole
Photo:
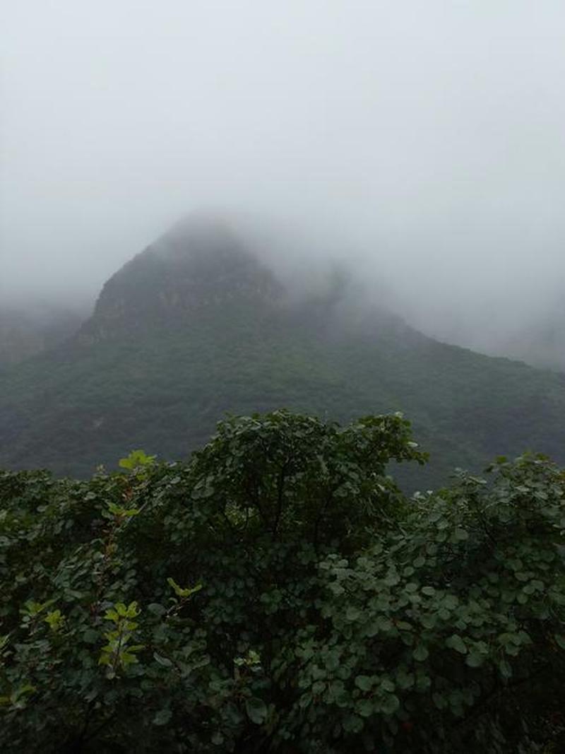
[[[88,477],[128,446],[182,458],[218,416],[279,406],[337,421],[402,410],[431,453],[420,484],[530,447],[565,461],[565,376],[442,345],[384,316],[344,326],[246,301],[190,323],[69,344],[0,377],[0,464]],[[412,489],[414,486],[411,484]]]

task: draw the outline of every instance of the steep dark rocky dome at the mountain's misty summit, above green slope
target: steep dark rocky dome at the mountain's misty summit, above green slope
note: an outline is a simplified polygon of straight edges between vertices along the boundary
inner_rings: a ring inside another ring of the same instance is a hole
[[[100,293],[81,339],[106,339],[147,327],[190,326],[210,307],[234,303],[258,316],[282,286],[223,222],[191,219],[127,262]]]

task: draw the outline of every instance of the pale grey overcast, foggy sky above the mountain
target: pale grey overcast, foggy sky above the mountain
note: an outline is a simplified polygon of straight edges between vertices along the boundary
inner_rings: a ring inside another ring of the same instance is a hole
[[[563,0],[17,0],[1,84],[4,300],[92,297],[202,207],[469,345],[565,294]]]

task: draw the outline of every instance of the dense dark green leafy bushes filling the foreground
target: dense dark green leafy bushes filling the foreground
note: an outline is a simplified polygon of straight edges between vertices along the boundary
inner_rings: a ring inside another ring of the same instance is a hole
[[[401,415],[278,411],[183,464],[0,472],[0,748],[559,750],[563,472],[408,500],[392,459],[425,459]]]

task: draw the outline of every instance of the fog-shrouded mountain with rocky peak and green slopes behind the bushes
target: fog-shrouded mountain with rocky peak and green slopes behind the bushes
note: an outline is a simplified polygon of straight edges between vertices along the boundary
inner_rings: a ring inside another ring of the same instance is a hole
[[[432,452],[405,474],[417,486],[524,449],[565,461],[565,375],[423,336],[353,305],[339,276],[288,294],[221,223],[174,228],[108,280],[77,336],[0,375],[0,465],[84,475],[132,448],[178,458],[224,412],[280,406],[404,412]]]

